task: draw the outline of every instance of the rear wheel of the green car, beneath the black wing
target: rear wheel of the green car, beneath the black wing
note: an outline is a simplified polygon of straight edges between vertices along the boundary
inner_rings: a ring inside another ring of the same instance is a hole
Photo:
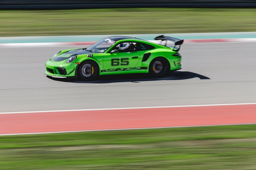
[[[163,57],[157,57],[149,64],[149,73],[155,77],[165,77],[170,70],[169,62]]]

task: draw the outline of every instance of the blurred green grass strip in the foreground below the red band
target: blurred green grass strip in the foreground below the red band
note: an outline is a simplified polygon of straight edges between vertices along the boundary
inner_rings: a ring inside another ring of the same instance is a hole
[[[256,125],[0,136],[1,170],[255,167]]]

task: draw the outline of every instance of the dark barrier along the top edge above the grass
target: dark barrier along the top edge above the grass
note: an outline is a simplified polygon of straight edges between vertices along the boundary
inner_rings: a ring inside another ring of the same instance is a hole
[[[255,8],[255,0],[0,0],[1,10],[136,7]]]

